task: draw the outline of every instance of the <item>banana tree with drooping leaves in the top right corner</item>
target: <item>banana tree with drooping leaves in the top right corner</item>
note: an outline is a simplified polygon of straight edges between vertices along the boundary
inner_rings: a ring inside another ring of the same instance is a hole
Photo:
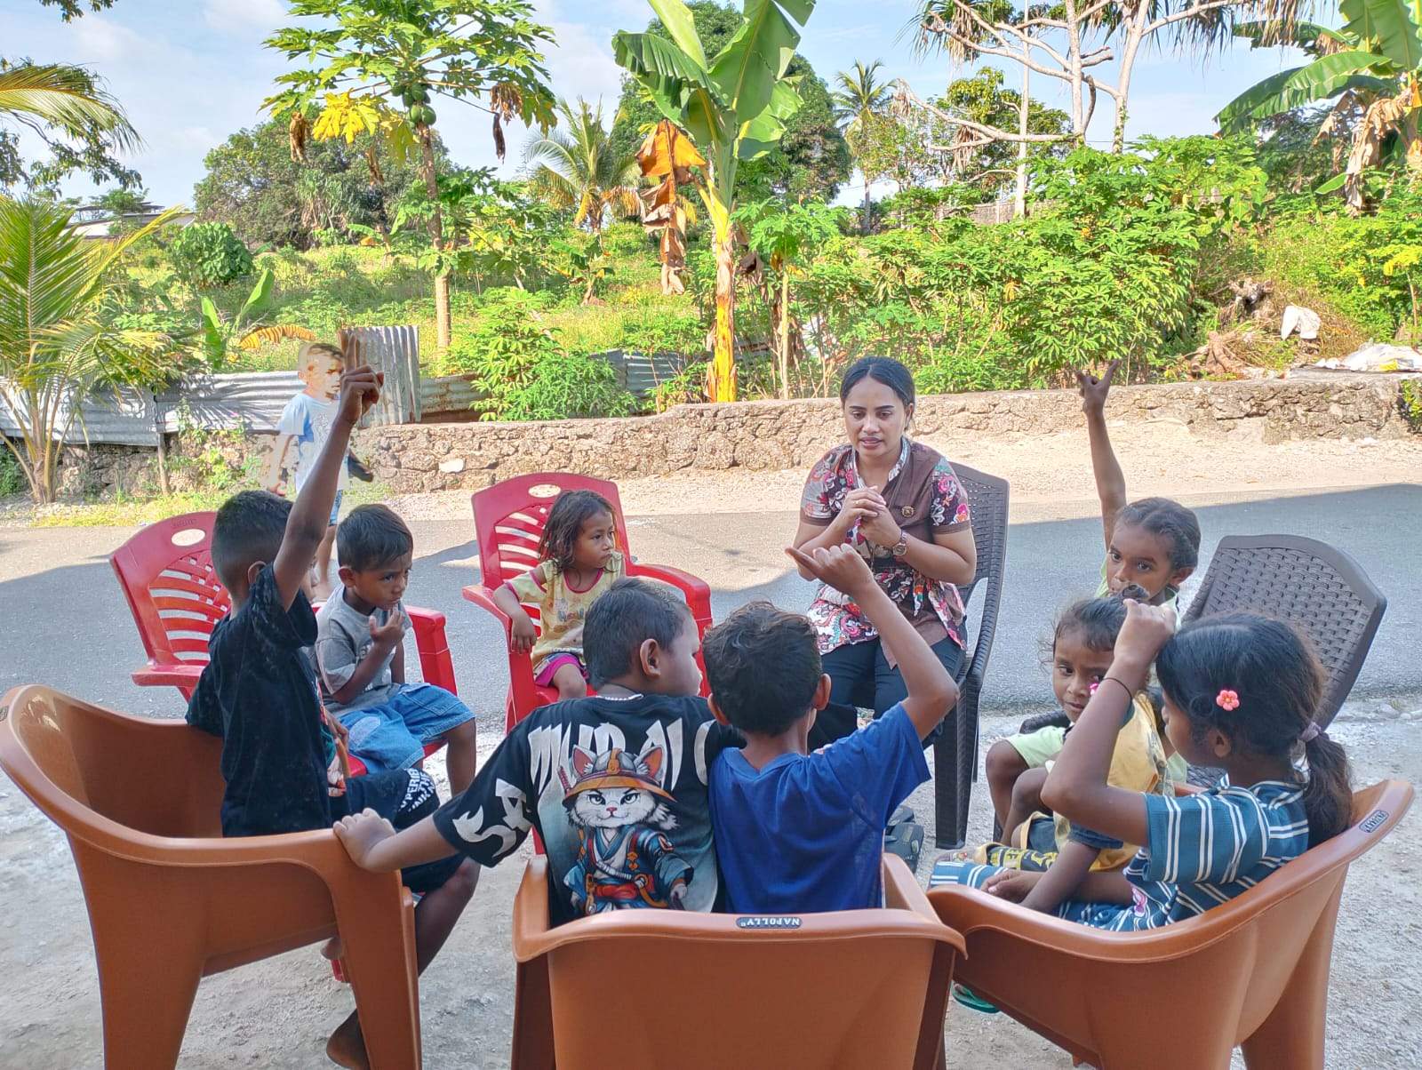
[[[1394,132],[1406,165],[1422,172],[1422,0],[1342,0],[1340,11],[1347,21],[1338,30],[1295,23],[1281,36],[1277,26],[1266,23],[1237,27],[1253,47],[1293,44],[1315,58],[1264,78],[1224,105],[1216,120],[1231,131],[1335,97],[1335,111],[1362,104],[1347,168],[1318,189],[1341,186],[1357,211],[1364,202],[1364,172],[1381,162],[1384,142]],[[1325,122],[1332,125],[1332,117]]]

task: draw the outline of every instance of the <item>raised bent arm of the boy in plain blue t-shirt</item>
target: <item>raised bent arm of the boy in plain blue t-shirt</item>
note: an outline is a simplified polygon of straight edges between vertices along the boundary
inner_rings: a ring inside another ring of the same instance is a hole
[[[903,709],[913,721],[919,738],[933,731],[957,703],[958,687],[923,642],[923,636],[909,623],[909,618],[875,583],[873,573],[859,552],[850,546],[835,546],[818,548],[809,553],[789,548],[786,553],[795,559],[802,573],[808,572],[812,578],[855,599],[899,662],[899,672],[903,673],[903,683],[909,692]]]

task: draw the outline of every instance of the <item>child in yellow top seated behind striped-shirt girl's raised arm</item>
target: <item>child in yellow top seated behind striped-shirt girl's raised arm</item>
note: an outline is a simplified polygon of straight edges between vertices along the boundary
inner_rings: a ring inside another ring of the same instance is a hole
[[[1133,598],[1143,592],[1129,586],[1125,593]],[[1111,669],[1125,620],[1126,605],[1115,595],[1084,599],[1058,618],[1052,637],[1052,692],[1071,724],[1081,717]],[[1069,731],[1048,729],[1042,733],[1047,746],[1041,753],[1045,757],[1017,778],[1011,804],[998,814],[1004,842],[985,844],[971,855],[940,861],[933,869],[934,884],[980,885],[998,869],[1045,872],[1039,879],[1032,878],[1034,886],[1022,905],[1054,911],[1075,895],[1088,872],[1118,869],[1130,861],[1138,849],[1135,845],[1075,825],[1061,815],[1054,821],[1034,812],[1041,808],[1042,784]],[[1106,781],[1139,793],[1172,790],[1155,709],[1143,692],[1132,696],[1118,724]]]

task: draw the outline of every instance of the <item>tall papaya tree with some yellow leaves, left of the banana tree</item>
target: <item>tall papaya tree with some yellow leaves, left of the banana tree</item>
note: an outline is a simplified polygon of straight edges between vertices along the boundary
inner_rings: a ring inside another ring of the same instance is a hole
[[[437,100],[493,117],[503,159],[503,124],[552,125],[553,92],[542,47],[553,31],[533,21],[525,0],[292,0],[292,16],[319,20],[277,30],[269,48],[307,67],[280,75],[266,105],[289,120],[293,155],[309,138],[384,141],[397,158],[417,152],[428,213],[422,265],[435,280],[435,333],[448,349],[451,242],[445,239],[435,169]]]

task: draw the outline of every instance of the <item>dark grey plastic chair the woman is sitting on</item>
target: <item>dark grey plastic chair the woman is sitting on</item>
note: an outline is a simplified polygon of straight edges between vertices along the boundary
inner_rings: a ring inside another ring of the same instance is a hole
[[[958,672],[958,704],[948,714],[948,723],[933,744],[934,839],[940,848],[963,847],[967,838],[968,802],[973,781],[977,780],[978,697],[987,659],[993,655],[997,633],[997,613],[1003,602],[1003,569],[1007,563],[1007,480],[954,464],[958,482],[968,495],[973,512],[973,539],[977,544],[977,575],[967,586],[960,586],[963,605],[971,616],[974,592],[981,612],[977,629],[970,632]]]

